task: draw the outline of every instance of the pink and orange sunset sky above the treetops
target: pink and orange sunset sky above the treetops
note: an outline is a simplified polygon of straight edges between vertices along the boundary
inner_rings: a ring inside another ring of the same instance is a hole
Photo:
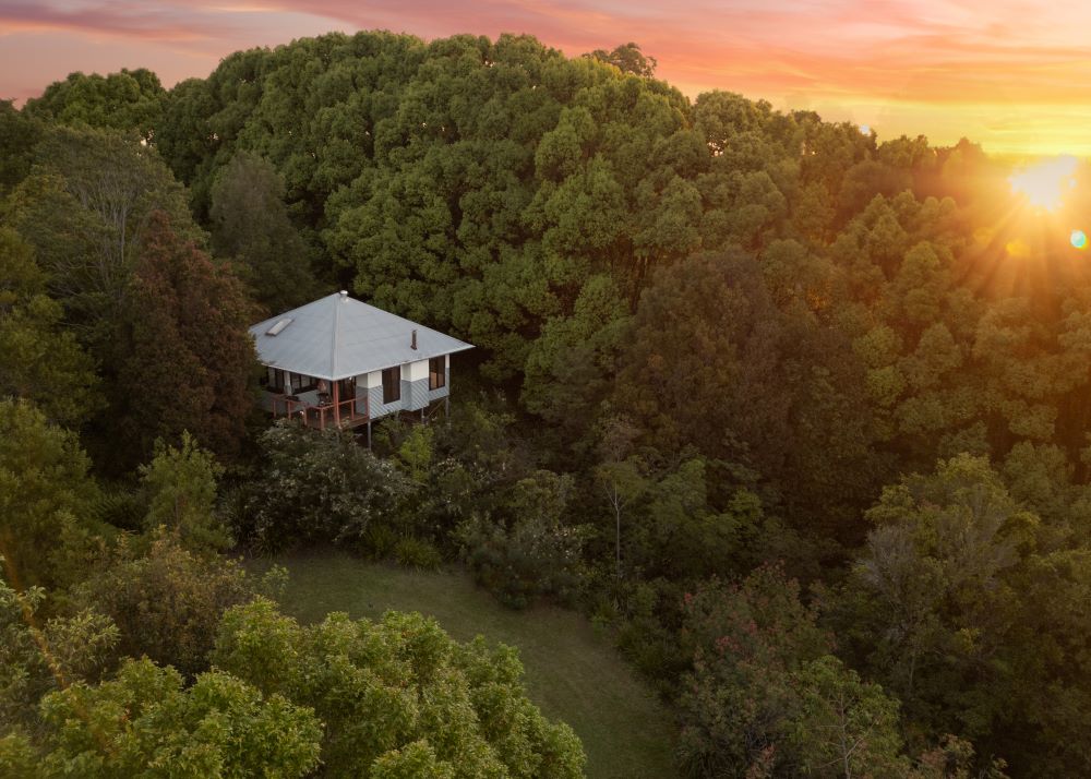
[[[1091,156],[1091,3],[1059,0],[0,0],[0,98],[69,72],[205,76],[240,48],[329,31],[628,40],[691,96],[722,88],[994,153]]]

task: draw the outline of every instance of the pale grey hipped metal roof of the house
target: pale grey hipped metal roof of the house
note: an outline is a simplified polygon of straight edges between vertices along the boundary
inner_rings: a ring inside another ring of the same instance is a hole
[[[281,325],[285,320],[290,321]],[[277,325],[280,328],[269,335]],[[328,381],[473,348],[472,344],[355,300],[347,292],[334,292],[263,320],[250,327],[250,335],[262,364]]]

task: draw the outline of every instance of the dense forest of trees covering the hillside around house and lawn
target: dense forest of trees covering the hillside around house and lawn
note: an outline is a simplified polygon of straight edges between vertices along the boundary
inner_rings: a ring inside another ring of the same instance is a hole
[[[245,564],[322,546],[588,615],[684,777],[1091,775],[1088,171],[655,70],[364,32],[0,103],[0,775],[583,775],[513,650]],[[447,418],[259,410],[248,325],[338,289],[477,346]]]

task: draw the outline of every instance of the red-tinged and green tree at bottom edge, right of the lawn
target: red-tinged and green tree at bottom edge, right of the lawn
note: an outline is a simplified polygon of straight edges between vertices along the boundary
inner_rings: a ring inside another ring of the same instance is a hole
[[[835,658],[799,585],[760,567],[686,596],[680,705],[690,776],[904,777],[898,702]]]

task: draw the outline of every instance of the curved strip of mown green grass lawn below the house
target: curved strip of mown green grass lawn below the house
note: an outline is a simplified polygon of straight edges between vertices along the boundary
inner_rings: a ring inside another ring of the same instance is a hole
[[[302,622],[331,611],[353,618],[419,611],[459,640],[481,634],[517,647],[530,699],[576,731],[592,779],[675,776],[670,712],[582,615],[546,607],[512,611],[463,573],[407,571],[336,551],[276,562],[291,573],[284,610]]]

